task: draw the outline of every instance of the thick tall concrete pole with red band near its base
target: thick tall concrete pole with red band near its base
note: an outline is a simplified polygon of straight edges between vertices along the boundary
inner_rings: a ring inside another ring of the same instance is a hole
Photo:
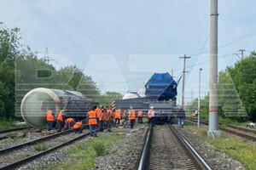
[[[211,0],[210,32],[209,130],[207,136],[218,138],[221,135],[218,131],[218,0]]]

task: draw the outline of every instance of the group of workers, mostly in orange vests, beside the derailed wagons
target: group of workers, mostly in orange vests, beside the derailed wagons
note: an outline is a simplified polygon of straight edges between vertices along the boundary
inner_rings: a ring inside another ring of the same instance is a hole
[[[58,112],[55,120],[54,111],[49,110],[46,112],[46,119],[48,122],[48,131],[52,130],[53,124],[57,122],[58,132],[61,132],[62,129],[67,130],[73,127],[75,133],[82,133],[84,129],[84,124],[81,121],[76,121],[72,117],[66,116],[66,109],[63,108]],[[177,112],[183,112],[182,116],[178,117],[178,125],[179,127],[183,127],[183,121],[185,113],[182,108],[178,107]],[[103,128],[107,127],[107,131],[111,132],[112,124],[114,127],[119,127],[120,121],[123,120],[123,125],[130,122],[130,127],[133,128],[136,122],[143,123],[143,111],[136,111],[133,107],[130,107],[130,110],[121,111],[120,108],[117,110],[112,110],[106,107],[97,106],[96,109],[90,108],[87,113],[87,122],[90,129],[90,135],[96,137],[97,128],[99,128],[100,132],[103,132]],[[154,107],[151,106],[148,111],[148,122],[153,126],[155,124],[155,115]]]

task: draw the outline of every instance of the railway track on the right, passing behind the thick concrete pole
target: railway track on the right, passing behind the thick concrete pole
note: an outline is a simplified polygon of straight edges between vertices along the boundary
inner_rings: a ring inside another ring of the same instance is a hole
[[[197,119],[195,119],[195,118],[186,117],[186,119],[191,122],[197,122]],[[200,122],[205,125],[209,124],[205,120],[200,121]],[[221,125],[221,123],[218,123],[218,124]],[[227,127],[218,127],[218,128],[224,132],[236,134],[237,136],[240,136],[240,137],[246,138],[246,139],[250,139],[250,140],[253,140],[254,142],[256,142],[256,131],[255,130],[248,129],[245,127],[238,127],[235,125],[228,125]]]

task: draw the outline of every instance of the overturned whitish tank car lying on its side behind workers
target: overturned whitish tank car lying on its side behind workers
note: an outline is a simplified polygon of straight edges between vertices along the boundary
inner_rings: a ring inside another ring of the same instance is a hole
[[[90,107],[95,107],[96,102],[86,99],[79,92],[35,88],[29,91],[22,99],[20,110],[24,121],[32,127],[45,127],[46,111],[49,109],[57,113],[64,107],[67,109],[67,116],[83,119]]]

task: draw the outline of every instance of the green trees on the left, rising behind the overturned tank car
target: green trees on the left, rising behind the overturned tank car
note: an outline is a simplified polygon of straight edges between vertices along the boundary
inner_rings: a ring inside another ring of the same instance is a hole
[[[15,116],[15,108],[20,109],[24,95],[33,88],[57,88],[76,90],[101,105],[111,105],[113,99],[122,94],[107,92],[101,94],[96,82],[84,75],[75,65],[55,69],[38,53],[20,43],[19,28],[0,28],[0,118],[20,119]]]

